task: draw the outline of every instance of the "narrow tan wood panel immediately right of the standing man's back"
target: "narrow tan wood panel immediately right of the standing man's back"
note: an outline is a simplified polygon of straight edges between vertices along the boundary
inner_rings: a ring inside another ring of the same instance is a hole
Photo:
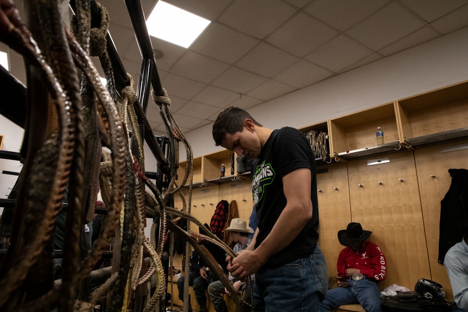
[[[350,197],[348,190],[348,170],[346,163],[332,163],[328,172],[317,174],[319,202],[319,241],[327,261],[329,276],[336,276],[336,261],[344,248],[338,242],[337,233],[346,229],[351,222]],[[338,190],[334,190],[336,187]]]

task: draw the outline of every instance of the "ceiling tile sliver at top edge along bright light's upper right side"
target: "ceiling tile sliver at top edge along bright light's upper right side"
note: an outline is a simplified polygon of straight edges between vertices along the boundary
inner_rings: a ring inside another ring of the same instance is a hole
[[[214,20],[231,0],[166,0],[166,2],[190,11],[195,15]]]

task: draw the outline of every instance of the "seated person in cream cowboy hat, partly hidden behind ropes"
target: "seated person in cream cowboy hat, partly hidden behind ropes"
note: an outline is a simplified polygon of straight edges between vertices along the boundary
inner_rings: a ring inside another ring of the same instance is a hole
[[[254,230],[248,227],[247,223],[240,218],[232,219],[231,224],[224,231],[231,233],[234,242],[237,243],[234,246],[234,253],[239,253],[241,250],[245,250],[250,245],[252,238],[249,237],[249,233],[254,232]],[[255,274],[252,274],[251,277],[254,278]],[[241,286],[243,287],[245,285],[245,282],[237,280],[236,278],[232,277],[230,273],[229,280],[233,283],[234,290],[236,291],[240,290]],[[251,290],[247,289],[246,291],[250,292]],[[222,295],[224,293],[229,296],[231,295],[221,281],[212,282],[210,285],[208,285],[208,294],[210,295],[216,312],[227,312],[227,305],[226,302],[224,302]],[[250,301],[249,295],[247,295],[246,301]],[[249,309],[245,311],[249,311]]]

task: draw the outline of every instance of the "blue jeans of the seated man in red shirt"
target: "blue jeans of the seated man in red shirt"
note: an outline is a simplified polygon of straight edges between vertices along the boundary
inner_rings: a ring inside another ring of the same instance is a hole
[[[376,282],[368,280],[347,280],[348,287],[336,287],[327,292],[320,303],[320,312],[329,312],[340,305],[359,303],[366,312],[381,312],[380,291]]]

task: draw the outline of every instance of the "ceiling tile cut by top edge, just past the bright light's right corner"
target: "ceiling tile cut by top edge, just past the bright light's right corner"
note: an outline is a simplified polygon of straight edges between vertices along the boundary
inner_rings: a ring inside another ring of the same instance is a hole
[[[236,0],[218,21],[263,39],[296,11],[280,0]]]

